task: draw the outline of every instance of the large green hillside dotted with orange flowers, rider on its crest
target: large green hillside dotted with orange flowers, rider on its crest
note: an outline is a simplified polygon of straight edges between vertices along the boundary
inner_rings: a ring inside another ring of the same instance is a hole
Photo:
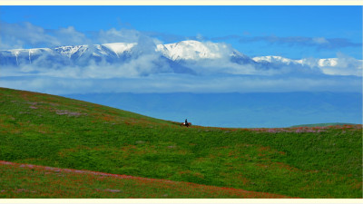
[[[0,89],[0,160],[270,192],[362,197],[361,126],[243,130]],[[295,131],[296,130],[296,131]]]

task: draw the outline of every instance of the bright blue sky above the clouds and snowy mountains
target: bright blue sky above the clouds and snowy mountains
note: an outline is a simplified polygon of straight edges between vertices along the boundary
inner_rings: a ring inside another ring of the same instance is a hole
[[[362,58],[361,6],[0,6],[0,21],[86,35],[132,29],[162,43],[198,36],[249,56]]]

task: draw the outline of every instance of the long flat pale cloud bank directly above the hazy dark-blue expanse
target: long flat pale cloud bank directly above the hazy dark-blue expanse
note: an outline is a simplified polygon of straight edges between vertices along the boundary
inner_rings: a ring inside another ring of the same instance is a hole
[[[0,86],[53,94],[87,92],[361,92],[361,78],[201,77],[164,73],[143,78],[4,77]]]

